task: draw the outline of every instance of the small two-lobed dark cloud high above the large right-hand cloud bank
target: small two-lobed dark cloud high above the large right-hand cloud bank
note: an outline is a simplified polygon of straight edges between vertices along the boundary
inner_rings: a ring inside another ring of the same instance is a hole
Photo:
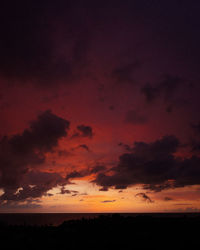
[[[183,83],[183,80],[178,76],[166,75],[157,84],[147,83],[144,85],[141,88],[141,93],[145,96],[147,103],[152,103],[160,97],[169,101],[181,83]]]

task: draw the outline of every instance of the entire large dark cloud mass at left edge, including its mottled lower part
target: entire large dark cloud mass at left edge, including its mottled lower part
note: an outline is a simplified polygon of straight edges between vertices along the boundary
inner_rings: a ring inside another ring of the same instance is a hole
[[[4,190],[1,200],[40,197],[64,182],[59,174],[41,172],[37,166],[45,162],[45,153],[52,152],[58,141],[67,136],[68,129],[67,120],[48,110],[32,121],[22,134],[1,139],[0,187]]]

